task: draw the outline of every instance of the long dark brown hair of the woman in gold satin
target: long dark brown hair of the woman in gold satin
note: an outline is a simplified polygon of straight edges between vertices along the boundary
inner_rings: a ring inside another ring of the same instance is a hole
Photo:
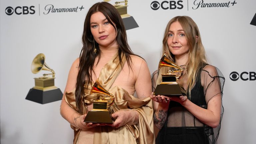
[[[82,101],[84,96],[83,86],[85,85],[86,87],[88,87],[88,85],[91,85],[92,73],[94,73],[93,65],[94,65],[96,56],[99,57],[98,62],[100,60],[99,44],[96,43],[96,41],[94,41],[93,35],[91,33],[91,29],[90,29],[91,16],[96,12],[101,12],[102,14],[104,14],[108,22],[113,27],[115,27],[115,30],[117,33],[116,41],[119,46],[118,53],[119,53],[119,60],[121,62],[121,65],[123,66],[122,60],[121,60],[121,53],[123,53],[126,56],[126,60],[129,67],[131,67],[130,55],[135,55],[131,51],[131,48],[127,43],[127,36],[126,36],[123,20],[120,14],[118,13],[117,9],[113,5],[107,2],[99,2],[94,4],[87,12],[87,15],[84,21],[84,31],[82,35],[83,48],[79,56],[79,72],[77,76],[75,95],[76,95],[76,106],[80,114],[83,114],[83,110],[82,110],[82,104],[83,104]],[[96,54],[93,51],[94,45],[95,45],[95,48],[97,49]]]

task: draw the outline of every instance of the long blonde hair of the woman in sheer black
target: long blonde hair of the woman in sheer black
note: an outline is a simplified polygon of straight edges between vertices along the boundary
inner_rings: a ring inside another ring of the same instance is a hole
[[[164,38],[163,38],[163,49],[162,54],[166,52],[166,55],[169,59],[173,60],[175,62],[175,56],[170,52],[168,45],[167,45],[167,39],[168,39],[168,31],[173,22],[179,22],[182,26],[185,37],[187,39],[187,43],[189,46],[189,56],[188,56],[188,62],[187,62],[187,76],[188,76],[188,84],[186,91],[189,93],[189,96],[191,96],[191,89],[195,85],[195,81],[197,78],[197,72],[199,71],[200,67],[202,67],[204,64],[207,63],[205,50],[201,41],[199,29],[196,25],[196,23],[193,21],[192,18],[188,16],[176,16],[172,18],[164,32]],[[197,38],[196,38],[197,36]],[[159,84],[162,81],[161,74],[167,73],[169,68],[163,67],[159,70],[159,76],[157,79],[157,84]]]

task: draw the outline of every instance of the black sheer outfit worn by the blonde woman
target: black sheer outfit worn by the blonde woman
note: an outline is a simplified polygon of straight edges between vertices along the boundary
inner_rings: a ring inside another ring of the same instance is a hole
[[[153,91],[157,85],[157,77],[158,71],[155,71],[152,74]],[[186,82],[186,70],[181,79],[183,80],[177,82]],[[224,82],[225,78],[216,67],[205,64],[198,71],[191,96],[187,97],[194,104],[207,109],[211,98],[221,94],[222,99]],[[171,101],[167,120],[157,135],[156,144],[217,144],[223,111],[221,103],[220,123],[216,128],[212,128],[199,121],[180,103]]]

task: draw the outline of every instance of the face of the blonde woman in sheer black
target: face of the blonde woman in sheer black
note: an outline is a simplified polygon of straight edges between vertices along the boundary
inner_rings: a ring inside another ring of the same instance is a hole
[[[173,22],[170,25],[167,45],[172,54],[175,57],[188,56],[189,46],[185,33],[179,22]]]

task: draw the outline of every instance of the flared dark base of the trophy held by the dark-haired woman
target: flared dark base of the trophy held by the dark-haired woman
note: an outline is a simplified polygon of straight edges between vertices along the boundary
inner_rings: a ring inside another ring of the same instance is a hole
[[[91,123],[113,123],[111,115],[108,111],[94,111],[87,113],[84,122]]]

